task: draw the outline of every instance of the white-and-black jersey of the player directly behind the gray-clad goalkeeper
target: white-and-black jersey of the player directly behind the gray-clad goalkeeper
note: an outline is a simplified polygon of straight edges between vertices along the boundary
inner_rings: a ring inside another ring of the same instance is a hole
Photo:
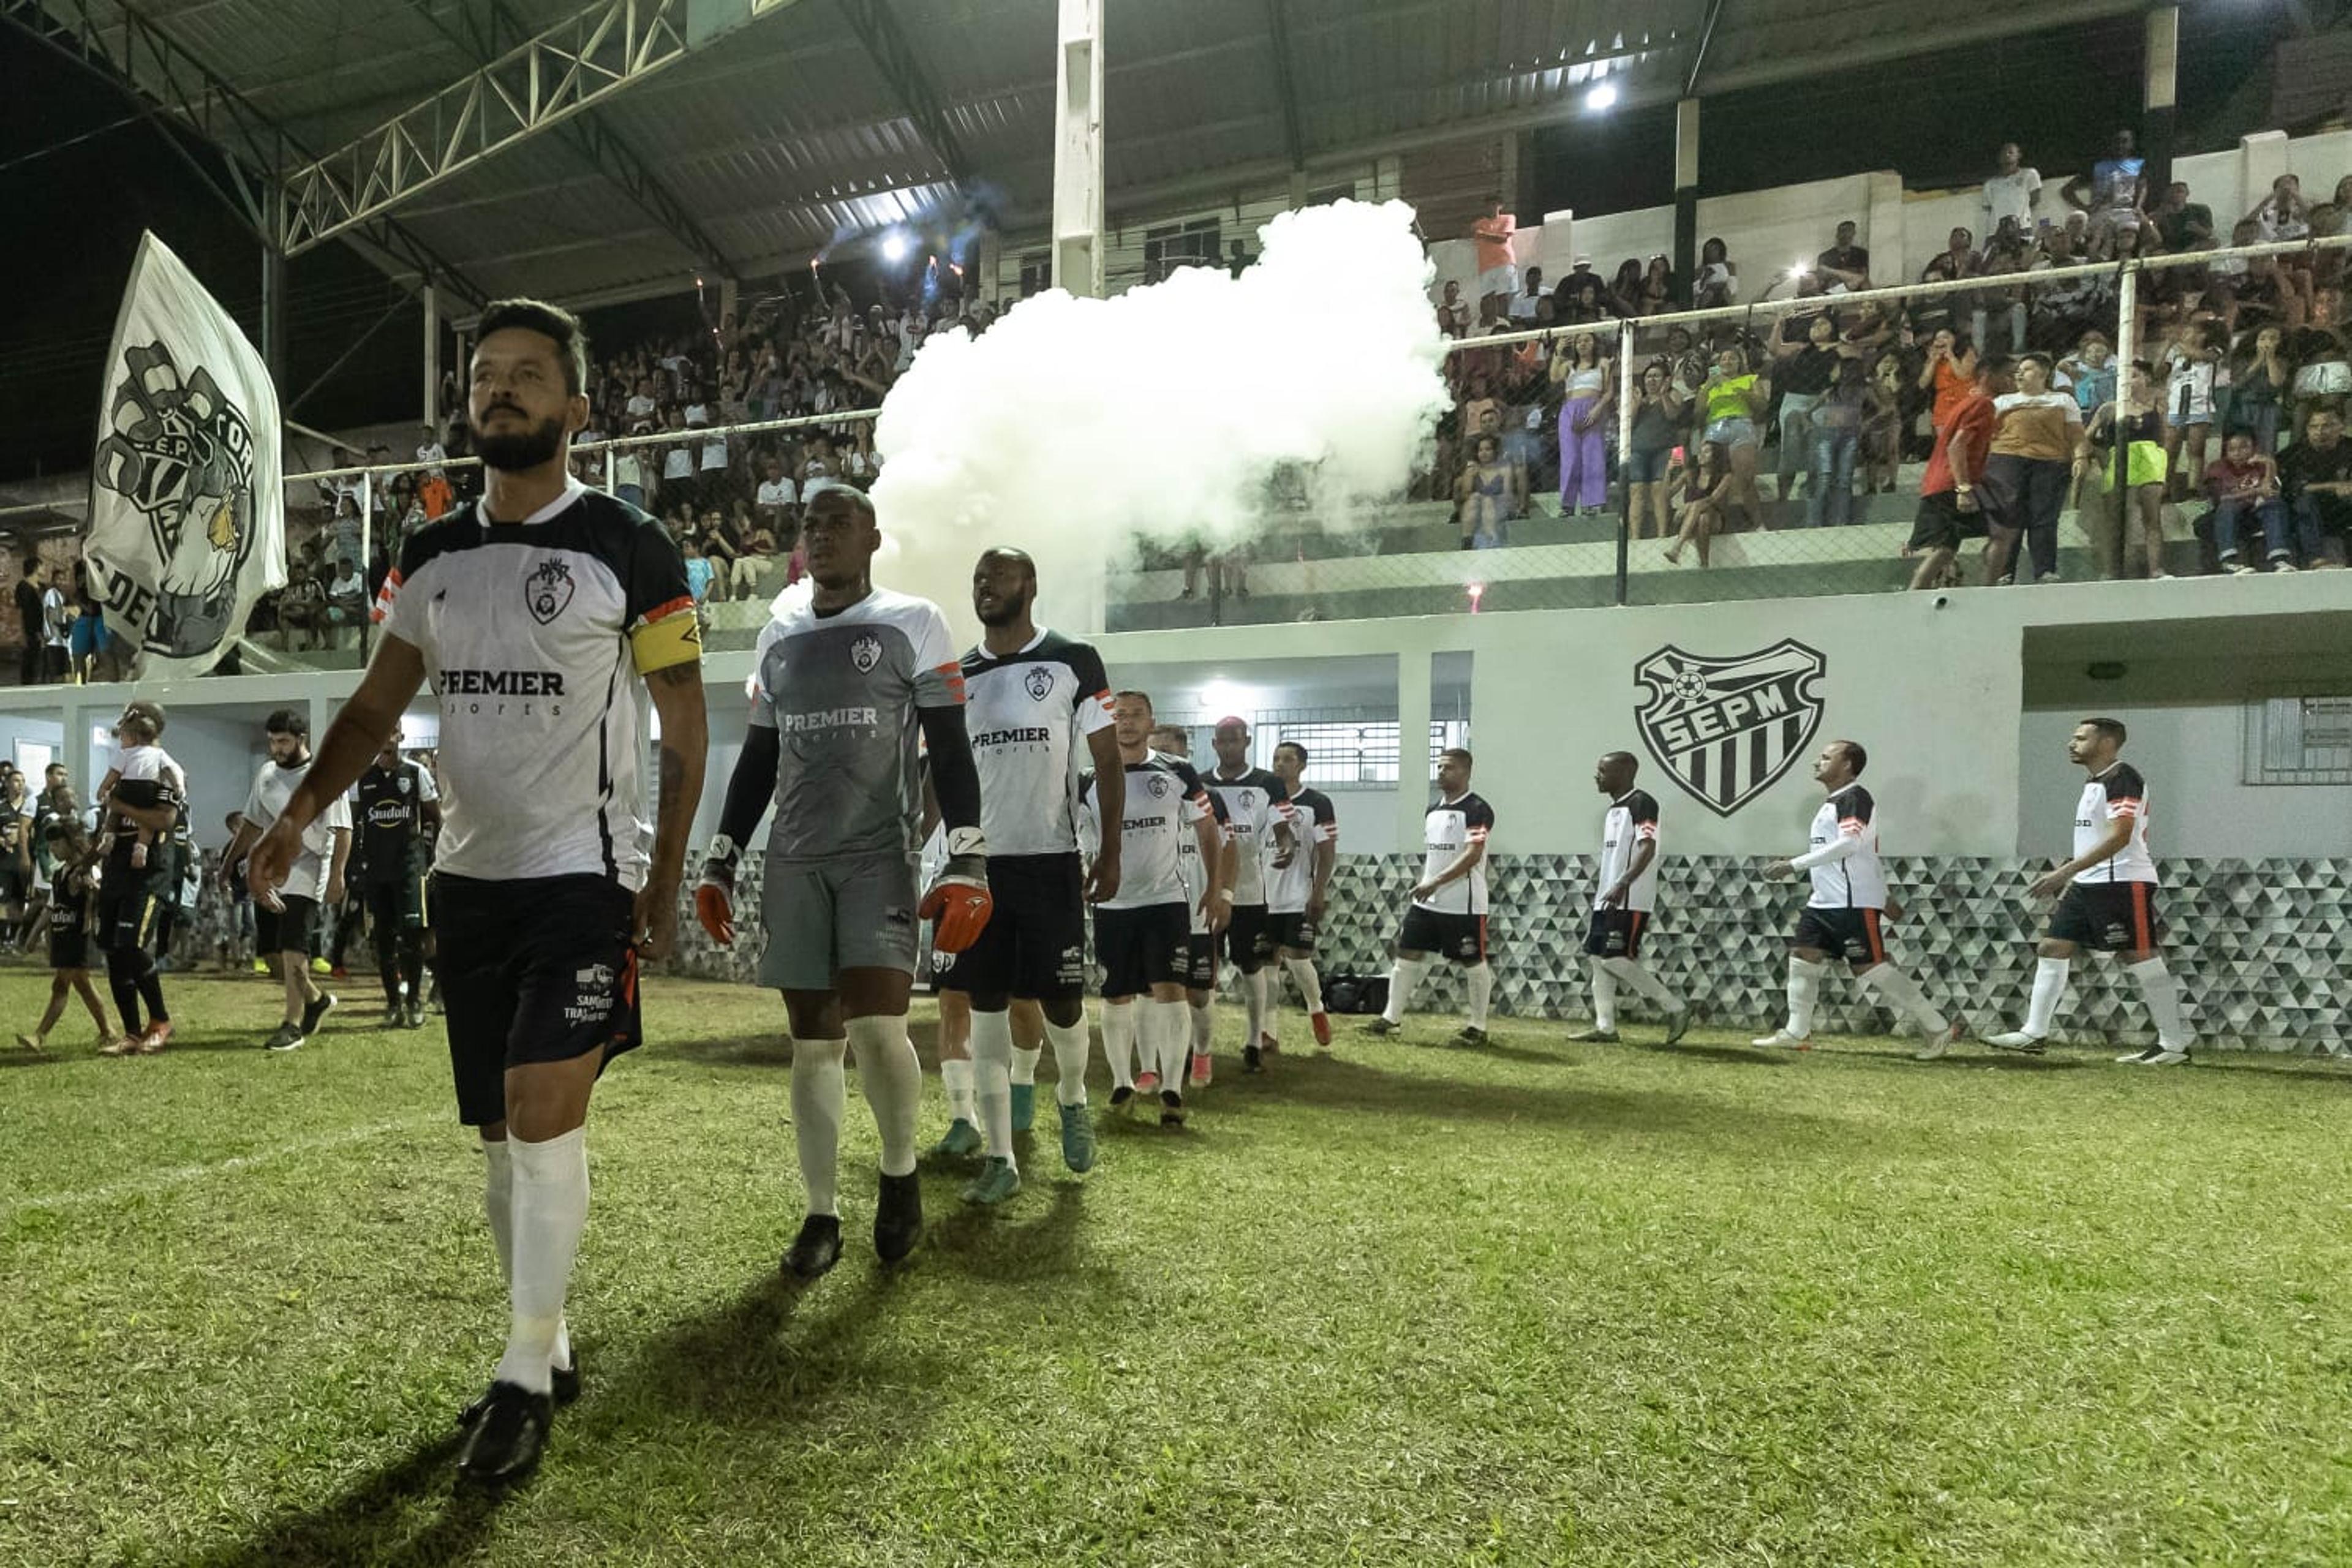
[[[995,856],[1077,851],[1073,792],[1087,738],[1110,724],[1103,658],[1061,632],[1018,654],[964,654],[964,724],[981,771],[981,832]]]

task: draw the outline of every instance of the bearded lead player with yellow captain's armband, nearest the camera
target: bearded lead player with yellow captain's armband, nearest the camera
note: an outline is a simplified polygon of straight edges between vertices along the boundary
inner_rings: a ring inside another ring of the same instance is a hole
[[[637,959],[677,938],[708,724],[687,564],[659,522],[572,477],[588,341],[555,306],[492,301],[466,423],[482,496],[414,531],[376,595],[381,635],[318,762],[249,860],[256,896],[358,783],[430,675],[442,837],[435,959],[459,1119],[480,1128],[508,1279],[506,1354],[466,1410],[459,1474],[529,1472],[579,1396],[564,1288],[588,1225],[588,1098],[640,1041]],[[661,806],[644,820],[647,696]],[[647,849],[652,844],[652,849]]]

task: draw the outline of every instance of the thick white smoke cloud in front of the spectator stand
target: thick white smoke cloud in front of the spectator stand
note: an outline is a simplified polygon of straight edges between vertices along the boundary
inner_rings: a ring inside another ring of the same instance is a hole
[[[1411,226],[1404,202],[1287,212],[1240,277],[1051,292],[981,339],[934,336],[875,428],[875,578],[976,635],[971,564],[1018,545],[1040,623],[1096,628],[1103,569],[1134,538],[1249,538],[1277,465],[1310,465],[1324,512],[1395,498],[1446,407]]]

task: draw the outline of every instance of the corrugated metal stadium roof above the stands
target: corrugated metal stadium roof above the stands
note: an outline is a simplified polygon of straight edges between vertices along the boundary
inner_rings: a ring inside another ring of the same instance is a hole
[[[477,0],[134,0],[313,153],[329,153],[473,71]],[[586,0],[506,0],[527,28]],[[66,0],[56,0],[64,9]],[[87,0],[99,21],[120,0]],[[1957,28],[2023,31],[2133,0],[1740,0],[1708,80],[1825,71],[1856,47],[1933,49]],[[1054,155],[1054,0],[894,0],[967,174],[1042,219]],[[1138,193],[1263,179],[1289,160],[1272,26],[1287,31],[1303,158],[1566,113],[1597,75],[1628,101],[1679,96],[1705,0],[1105,0],[1105,183]],[[1705,85],[1700,87],[1705,92]],[[788,0],[593,108],[739,270],[957,200],[941,148],[840,0]],[[393,216],[492,292],[557,299],[675,287],[691,247],[564,136],[539,134]]]

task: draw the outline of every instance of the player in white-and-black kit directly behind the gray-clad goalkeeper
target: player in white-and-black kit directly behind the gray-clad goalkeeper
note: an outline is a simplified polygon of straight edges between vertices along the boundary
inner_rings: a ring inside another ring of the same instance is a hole
[[[1080,750],[1094,757],[1098,811],[1110,820],[1124,811],[1127,769],[1110,733],[1110,679],[1101,654],[1040,630],[1030,618],[1035,602],[1037,564],[1028,555],[1002,545],[981,555],[971,569],[971,614],[983,630],[981,646],[964,654],[964,712],[981,776],[981,832],[988,835],[995,912],[938,980],[941,992],[971,1004],[967,1056],[988,1164],[964,1187],[967,1204],[1002,1204],[1021,1192],[1014,1133],[1025,1131],[1035,1114],[1037,1058],[1018,1063],[1028,1067],[1028,1079],[1016,1081],[1016,997],[1044,1009],[1054,1100],[1061,1105],[1061,1161],[1073,1171],[1094,1168],[1087,905],[1120,891],[1122,835],[1103,839],[1091,872],[1080,870],[1070,762]],[[938,1056],[946,1077],[946,1032]]]

